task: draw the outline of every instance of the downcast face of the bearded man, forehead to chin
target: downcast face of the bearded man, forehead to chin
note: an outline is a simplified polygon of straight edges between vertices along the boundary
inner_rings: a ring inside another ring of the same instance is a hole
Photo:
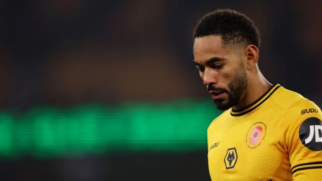
[[[247,88],[244,48],[222,46],[220,36],[196,38],[194,63],[217,109],[238,104]]]

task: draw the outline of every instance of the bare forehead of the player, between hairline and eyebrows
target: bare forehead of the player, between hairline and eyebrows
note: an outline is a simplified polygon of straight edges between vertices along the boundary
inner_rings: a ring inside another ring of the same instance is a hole
[[[222,45],[220,36],[196,38],[193,46],[195,61],[203,62],[213,57],[229,58],[231,51]]]

